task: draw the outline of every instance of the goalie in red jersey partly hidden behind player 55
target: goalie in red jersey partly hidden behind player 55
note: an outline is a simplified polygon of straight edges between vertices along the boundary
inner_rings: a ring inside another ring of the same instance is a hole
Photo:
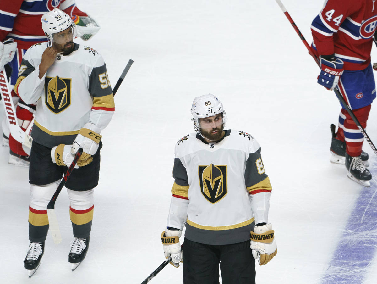
[[[17,80],[18,69],[26,50],[35,43],[47,41],[46,34],[44,34],[40,26],[40,18],[41,15],[54,8],[60,8],[69,16],[75,19],[80,18],[81,22],[86,23],[86,25],[77,27],[78,36],[81,36],[83,39],[89,39],[90,36],[88,35],[95,34],[100,29],[98,24],[89,15],[77,8],[75,0],[1,1],[0,42],[3,42],[5,39],[13,39],[17,44],[16,54],[9,63],[12,66],[11,85],[14,85]],[[17,103],[18,98],[14,92],[12,92],[12,96],[14,96],[14,102]],[[33,119],[35,103],[27,105],[22,100],[18,100],[15,111],[18,124],[25,131]],[[17,142],[12,137],[5,119],[2,121],[2,128],[3,145],[9,144],[10,148],[9,163],[28,166],[30,148]]]

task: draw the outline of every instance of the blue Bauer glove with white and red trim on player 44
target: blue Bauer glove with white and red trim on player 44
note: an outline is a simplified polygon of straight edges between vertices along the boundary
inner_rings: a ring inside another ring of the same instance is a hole
[[[317,78],[317,82],[332,91],[338,85],[343,71],[343,60],[337,58],[330,61],[321,57],[321,73]]]

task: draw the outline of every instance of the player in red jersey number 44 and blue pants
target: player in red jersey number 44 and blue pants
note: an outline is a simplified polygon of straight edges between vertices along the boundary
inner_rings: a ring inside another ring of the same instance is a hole
[[[337,86],[363,128],[376,97],[371,66],[372,37],[377,26],[375,0],[326,0],[313,20],[312,47],[320,58],[317,82],[328,90]],[[331,162],[345,164],[347,176],[369,186],[368,154],[364,136],[342,105],[338,131],[331,125]]]

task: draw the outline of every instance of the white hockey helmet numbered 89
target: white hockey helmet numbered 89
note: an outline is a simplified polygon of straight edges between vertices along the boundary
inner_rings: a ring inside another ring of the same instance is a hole
[[[222,124],[225,125],[227,115],[222,106],[222,102],[217,97],[213,94],[196,97],[191,107],[195,130],[200,133],[199,119],[214,116],[219,113],[222,113]]]

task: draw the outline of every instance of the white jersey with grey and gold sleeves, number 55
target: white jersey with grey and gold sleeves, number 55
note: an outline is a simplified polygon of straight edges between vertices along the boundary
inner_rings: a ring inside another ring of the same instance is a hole
[[[26,51],[14,86],[25,103],[37,102],[33,140],[52,148],[72,144],[84,125],[100,133],[115,110],[103,58],[94,49],[75,43],[74,51],[58,56],[39,79],[46,48],[47,43],[37,43]]]

